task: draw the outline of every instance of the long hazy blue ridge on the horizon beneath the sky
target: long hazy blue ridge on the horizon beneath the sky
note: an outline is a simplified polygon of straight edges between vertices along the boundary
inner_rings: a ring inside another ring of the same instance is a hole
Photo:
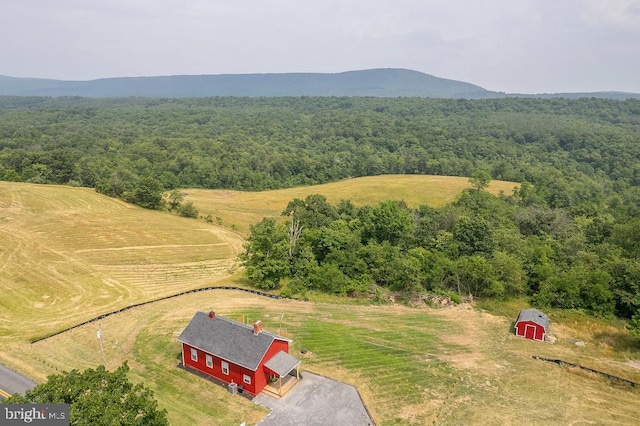
[[[82,96],[193,98],[212,96],[375,96],[427,98],[599,97],[640,98],[638,94],[599,92],[522,95],[492,92],[462,81],[398,68],[335,74],[219,74],[103,78],[65,81],[0,76],[0,96]]]

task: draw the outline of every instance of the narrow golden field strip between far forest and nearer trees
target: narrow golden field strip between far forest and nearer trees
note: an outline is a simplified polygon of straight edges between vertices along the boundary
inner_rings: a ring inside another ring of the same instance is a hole
[[[498,195],[512,194],[518,184],[491,181],[487,191]],[[203,216],[220,218],[225,227],[246,234],[249,225],[263,217],[279,217],[289,201],[310,194],[324,195],[332,204],[351,200],[357,206],[373,205],[384,200],[404,200],[411,207],[426,204],[442,207],[452,202],[462,190],[471,188],[468,178],[425,175],[383,175],[346,179],[340,182],[263,192],[185,189],[186,200],[192,201]]]

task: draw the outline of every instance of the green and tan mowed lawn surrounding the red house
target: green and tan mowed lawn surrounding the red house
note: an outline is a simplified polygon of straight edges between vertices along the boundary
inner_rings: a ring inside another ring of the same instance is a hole
[[[441,309],[272,300],[215,290],[146,305],[100,321],[108,368],[129,360],[132,378],[155,391],[172,424],[255,424],[266,411],[177,367],[177,336],[196,311],[214,310],[293,340],[304,370],[350,383],[377,424],[637,424],[638,391],[543,363],[531,355],[582,363],[604,359],[596,340],[573,344],[570,328],[549,345],[516,338],[511,320],[470,306]],[[101,363],[90,324],[19,354],[39,379]],[[302,354],[301,350],[307,353]],[[608,358],[599,365],[640,380]],[[640,373],[640,372],[639,372]]]

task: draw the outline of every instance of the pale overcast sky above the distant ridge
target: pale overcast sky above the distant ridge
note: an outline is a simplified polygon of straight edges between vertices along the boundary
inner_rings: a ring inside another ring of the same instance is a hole
[[[0,40],[15,77],[408,68],[640,92],[640,0],[0,0]]]

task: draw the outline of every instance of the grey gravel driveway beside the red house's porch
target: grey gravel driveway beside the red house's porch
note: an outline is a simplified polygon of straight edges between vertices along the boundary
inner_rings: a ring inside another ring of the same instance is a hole
[[[356,388],[309,372],[282,398],[262,393],[253,402],[271,409],[260,426],[373,424]]]

